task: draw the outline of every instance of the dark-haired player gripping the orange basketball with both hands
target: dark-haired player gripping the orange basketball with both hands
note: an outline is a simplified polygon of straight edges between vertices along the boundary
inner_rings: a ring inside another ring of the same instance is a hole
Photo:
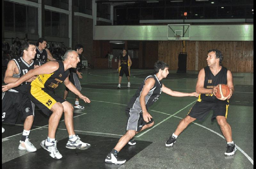
[[[219,50],[212,49],[208,51],[208,66],[200,70],[198,74],[196,92],[200,93],[196,104],[188,112],[188,115],[182,119],[175,132],[166,141],[165,146],[172,146],[176,142],[180,133],[186,129],[188,124],[196,119],[202,121],[207,114],[213,110],[212,120],[216,118],[220,129],[227,140],[228,149],[225,155],[232,156],[236,152],[236,146],[232,140],[231,127],[227,122],[229,98],[234,92],[233,77],[230,70],[221,66],[223,56]],[[225,84],[230,88],[230,94],[226,100],[220,100],[215,97],[217,85]]]

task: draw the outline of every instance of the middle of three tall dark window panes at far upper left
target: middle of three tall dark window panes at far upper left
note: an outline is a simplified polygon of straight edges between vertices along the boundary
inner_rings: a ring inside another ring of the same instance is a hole
[[[26,6],[15,4],[15,31],[26,32]]]

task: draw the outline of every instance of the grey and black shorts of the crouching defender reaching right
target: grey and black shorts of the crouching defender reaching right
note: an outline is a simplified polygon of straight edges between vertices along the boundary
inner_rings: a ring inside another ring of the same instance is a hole
[[[148,123],[146,121],[144,121],[141,110],[139,113],[139,111],[136,111],[136,109],[128,110],[128,108],[127,108],[126,113],[129,116],[126,130],[135,130],[135,131],[139,132],[143,126],[154,122],[153,118]]]

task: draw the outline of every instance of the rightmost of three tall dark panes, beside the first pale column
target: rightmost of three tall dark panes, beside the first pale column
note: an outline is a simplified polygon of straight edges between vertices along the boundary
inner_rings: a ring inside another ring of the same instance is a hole
[[[27,33],[37,33],[37,8],[27,7],[28,31]]]

